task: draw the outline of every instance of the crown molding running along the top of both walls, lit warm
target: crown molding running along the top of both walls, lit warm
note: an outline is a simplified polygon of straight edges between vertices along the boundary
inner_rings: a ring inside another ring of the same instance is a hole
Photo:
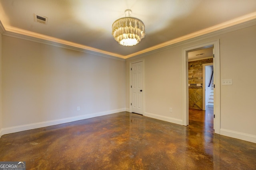
[[[62,47],[62,48],[80,51],[80,52],[84,52],[84,53],[90,53],[90,54],[98,55],[101,57],[108,57],[111,59],[126,61],[126,60],[135,59],[138,57],[142,57],[144,55],[156,53],[158,51],[163,51],[166,49],[177,47],[179,45],[192,43],[193,41],[198,41],[198,39],[205,39],[205,38],[213,37],[216,35],[221,35],[224,33],[236,31],[238,29],[243,29],[243,28],[250,27],[253,25],[256,25],[256,12],[248,14],[246,16],[241,16],[234,20],[230,20],[230,21],[218,24],[218,25],[214,25],[214,26],[206,28],[206,29],[202,29],[202,30],[194,32],[194,33],[190,33],[188,35],[167,41],[165,43],[162,43],[162,44],[159,44],[159,45],[156,45],[156,46],[153,46],[153,47],[150,47],[150,48],[144,49],[142,51],[138,51],[136,53],[126,55],[126,56],[119,55],[116,53],[111,53],[108,51],[103,51],[100,49],[88,47],[88,46],[77,44],[77,43],[72,43],[69,41],[57,39],[54,37],[30,32],[30,31],[26,31],[23,29],[18,29],[16,27],[4,27],[1,23],[1,21],[0,21],[0,33],[2,35],[25,39],[28,41],[44,43],[44,44],[53,45],[56,47]]]

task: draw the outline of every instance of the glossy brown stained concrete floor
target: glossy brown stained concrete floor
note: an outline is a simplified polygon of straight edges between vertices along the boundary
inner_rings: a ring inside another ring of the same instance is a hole
[[[212,113],[185,127],[120,112],[3,135],[0,161],[27,170],[254,170],[256,144],[213,133]]]

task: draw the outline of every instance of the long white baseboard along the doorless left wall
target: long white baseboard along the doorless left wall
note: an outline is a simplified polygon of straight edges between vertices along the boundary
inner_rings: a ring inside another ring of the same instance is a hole
[[[2,128],[2,129],[0,129],[0,137],[2,135],[6,135],[6,134],[9,134],[9,133],[16,133],[16,132],[20,132],[20,131],[27,131],[27,130],[37,129],[37,128],[41,128],[41,127],[58,125],[58,124],[62,124],[62,123],[72,122],[72,121],[78,121],[78,120],[82,120],[82,119],[89,119],[89,118],[92,118],[92,117],[109,115],[109,114],[112,114],[112,113],[118,113],[118,112],[122,112],[122,111],[125,111],[125,110],[126,110],[125,108],[116,109],[116,110],[110,110],[110,111],[103,111],[103,112],[98,112],[98,113],[80,115],[80,116],[75,116],[75,117],[67,117],[67,118],[64,118],[64,119],[56,119],[56,120],[51,120],[51,121],[44,121],[44,122],[31,123],[31,124],[26,124],[26,125]]]

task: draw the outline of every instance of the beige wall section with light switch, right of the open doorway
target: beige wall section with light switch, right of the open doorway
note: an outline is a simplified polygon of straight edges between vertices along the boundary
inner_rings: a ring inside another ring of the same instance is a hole
[[[256,26],[220,37],[221,128],[256,135]]]

